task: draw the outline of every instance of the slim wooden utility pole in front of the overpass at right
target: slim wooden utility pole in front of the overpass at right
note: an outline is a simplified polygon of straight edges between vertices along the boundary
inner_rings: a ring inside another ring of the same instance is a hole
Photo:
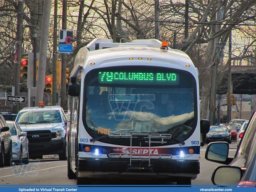
[[[227,123],[231,120],[231,54],[232,54],[232,31],[230,31],[228,40],[228,105],[227,105]]]

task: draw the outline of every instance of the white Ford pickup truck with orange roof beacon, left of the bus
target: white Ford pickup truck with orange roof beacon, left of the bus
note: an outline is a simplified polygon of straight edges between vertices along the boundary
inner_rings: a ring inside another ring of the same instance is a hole
[[[31,159],[58,154],[60,160],[67,160],[67,119],[60,106],[23,108],[16,122],[27,132]]]

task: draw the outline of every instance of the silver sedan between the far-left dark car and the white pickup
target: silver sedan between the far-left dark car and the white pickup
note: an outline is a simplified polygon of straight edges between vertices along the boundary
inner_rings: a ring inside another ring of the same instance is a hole
[[[17,163],[29,163],[27,132],[22,132],[15,121],[6,121],[10,127],[12,137],[12,161]]]

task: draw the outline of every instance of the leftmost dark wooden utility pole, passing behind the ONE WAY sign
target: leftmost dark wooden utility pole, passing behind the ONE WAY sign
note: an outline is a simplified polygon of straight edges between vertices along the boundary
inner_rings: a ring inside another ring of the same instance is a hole
[[[18,1],[18,16],[17,16],[17,34],[16,34],[16,41],[18,42],[17,46],[17,63],[15,63],[15,96],[20,96],[20,59],[21,59],[21,52],[22,52],[22,41],[23,41],[23,6],[24,2],[23,0]],[[19,113],[20,111],[20,104],[16,103],[16,105],[13,105],[13,111],[15,113]]]

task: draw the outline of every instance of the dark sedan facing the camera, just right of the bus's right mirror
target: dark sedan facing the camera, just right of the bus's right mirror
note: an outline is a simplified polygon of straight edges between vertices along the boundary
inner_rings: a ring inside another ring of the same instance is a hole
[[[231,143],[231,131],[225,125],[213,125],[210,126],[209,132],[206,134],[205,143],[213,141],[227,141]]]

